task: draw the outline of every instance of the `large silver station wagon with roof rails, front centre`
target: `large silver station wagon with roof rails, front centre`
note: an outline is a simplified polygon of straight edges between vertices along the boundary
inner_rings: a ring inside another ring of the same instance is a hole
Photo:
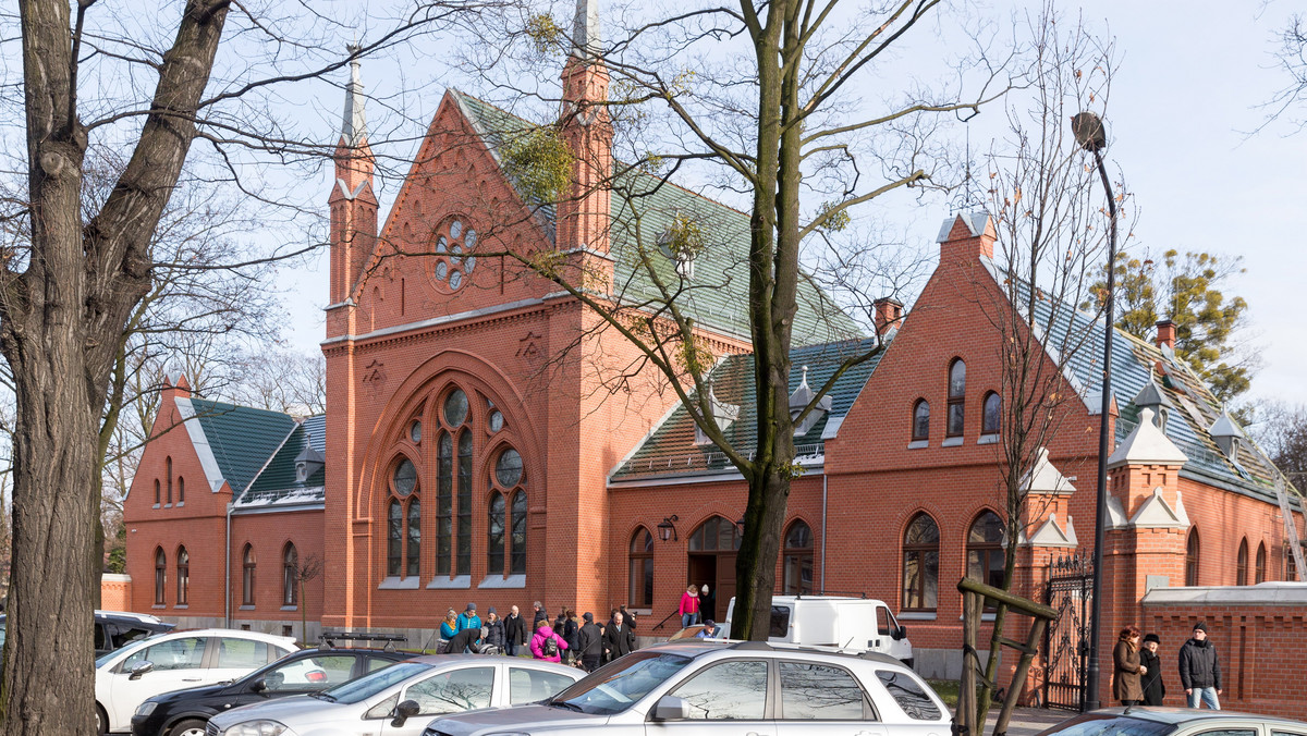
[[[438,718],[423,736],[948,736],[938,695],[897,659],[689,639],[608,664],[531,706]]]

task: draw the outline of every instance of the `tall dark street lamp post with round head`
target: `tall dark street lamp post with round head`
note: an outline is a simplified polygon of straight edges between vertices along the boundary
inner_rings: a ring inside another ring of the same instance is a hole
[[[1107,148],[1107,131],[1103,122],[1093,112],[1078,112],[1070,119],[1070,128],[1076,142],[1094,154],[1098,176],[1103,180],[1103,191],[1107,192],[1108,220],[1107,295],[1103,303],[1103,404],[1098,421],[1098,498],[1094,506],[1094,588],[1089,614],[1089,682],[1085,689],[1085,710],[1097,710],[1102,705],[1098,693],[1100,680],[1098,643],[1103,612],[1103,524],[1107,520],[1107,413],[1112,405],[1112,322],[1116,319],[1112,303],[1112,295],[1116,290],[1116,197],[1112,195],[1112,184],[1107,178],[1107,166],[1103,165],[1102,150]]]

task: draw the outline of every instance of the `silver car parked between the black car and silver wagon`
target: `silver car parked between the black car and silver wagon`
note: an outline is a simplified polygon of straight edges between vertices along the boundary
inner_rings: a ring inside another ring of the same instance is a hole
[[[311,695],[231,709],[208,736],[418,736],[433,715],[552,697],[586,673],[507,656],[429,655]]]

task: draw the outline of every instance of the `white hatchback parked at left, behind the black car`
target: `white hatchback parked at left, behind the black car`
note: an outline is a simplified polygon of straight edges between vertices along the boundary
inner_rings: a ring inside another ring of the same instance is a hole
[[[233,629],[169,631],[95,660],[95,720],[101,733],[129,732],[146,698],[234,680],[298,650],[291,637]]]

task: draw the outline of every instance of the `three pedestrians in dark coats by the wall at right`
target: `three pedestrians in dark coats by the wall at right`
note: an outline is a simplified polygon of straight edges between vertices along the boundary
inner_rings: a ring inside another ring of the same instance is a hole
[[[1121,629],[1112,660],[1116,671],[1112,677],[1112,697],[1123,706],[1159,706],[1166,697],[1166,684],[1162,681],[1162,661],[1157,650],[1162,639],[1149,634],[1140,639],[1134,626]],[[1189,707],[1206,703],[1212,710],[1221,710],[1221,661],[1217,647],[1208,639],[1208,625],[1199,621],[1193,625],[1193,637],[1180,647],[1180,685]]]

